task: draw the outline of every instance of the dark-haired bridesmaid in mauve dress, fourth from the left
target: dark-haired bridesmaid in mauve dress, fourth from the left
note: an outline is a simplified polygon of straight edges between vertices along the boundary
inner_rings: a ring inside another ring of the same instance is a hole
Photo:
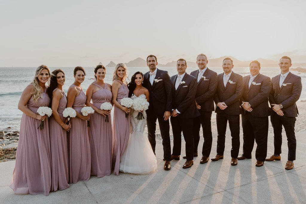
[[[91,106],[95,113],[91,114],[88,128],[91,151],[91,175],[109,176],[112,168],[112,125],[110,110],[101,110],[104,102],[111,102],[111,85],[104,82],[106,69],[103,65],[96,66],[95,81],[86,91],[86,106]],[[92,103],[90,103],[90,100]],[[108,115],[109,122],[105,122]]]

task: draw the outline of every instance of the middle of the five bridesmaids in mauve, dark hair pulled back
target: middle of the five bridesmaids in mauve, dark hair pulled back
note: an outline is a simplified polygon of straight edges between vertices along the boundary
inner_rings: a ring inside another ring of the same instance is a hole
[[[81,109],[85,106],[86,95],[81,87],[85,79],[83,67],[73,70],[74,83],[69,87],[67,93],[67,107],[76,110],[76,117],[70,119],[71,130],[69,140],[69,183],[88,181],[90,177],[90,144],[88,136],[87,121],[90,115],[83,116]]]

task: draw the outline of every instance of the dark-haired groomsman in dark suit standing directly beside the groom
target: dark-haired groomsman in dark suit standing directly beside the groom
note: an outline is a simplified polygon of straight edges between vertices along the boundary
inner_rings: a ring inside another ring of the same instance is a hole
[[[173,132],[173,151],[171,160],[179,160],[181,155],[181,133],[186,142],[186,162],[183,168],[193,165],[193,119],[200,115],[196,109],[196,78],[186,73],[185,59],[177,60],[177,74],[171,76],[173,104],[171,126]]]

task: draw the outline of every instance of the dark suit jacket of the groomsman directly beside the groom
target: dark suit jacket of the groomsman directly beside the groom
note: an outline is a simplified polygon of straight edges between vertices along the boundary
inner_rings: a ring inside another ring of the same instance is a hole
[[[173,104],[172,109],[177,109],[180,113],[179,118],[194,118],[200,116],[199,111],[196,108],[196,78],[185,73],[181,81],[185,81],[184,84],[178,86],[175,89],[175,82],[177,74],[171,76],[171,83],[173,89]]]

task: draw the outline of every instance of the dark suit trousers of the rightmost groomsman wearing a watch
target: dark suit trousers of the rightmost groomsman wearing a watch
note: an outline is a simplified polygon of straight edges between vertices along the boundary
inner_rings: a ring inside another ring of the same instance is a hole
[[[279,116],[275,113],[271,115],[271,123],[274,131],[274,154],[282,153],[282,126],[285,128],[288,141],[288,160],[295,160],[297,140],[295,139],[294,126],[295,117]]]

